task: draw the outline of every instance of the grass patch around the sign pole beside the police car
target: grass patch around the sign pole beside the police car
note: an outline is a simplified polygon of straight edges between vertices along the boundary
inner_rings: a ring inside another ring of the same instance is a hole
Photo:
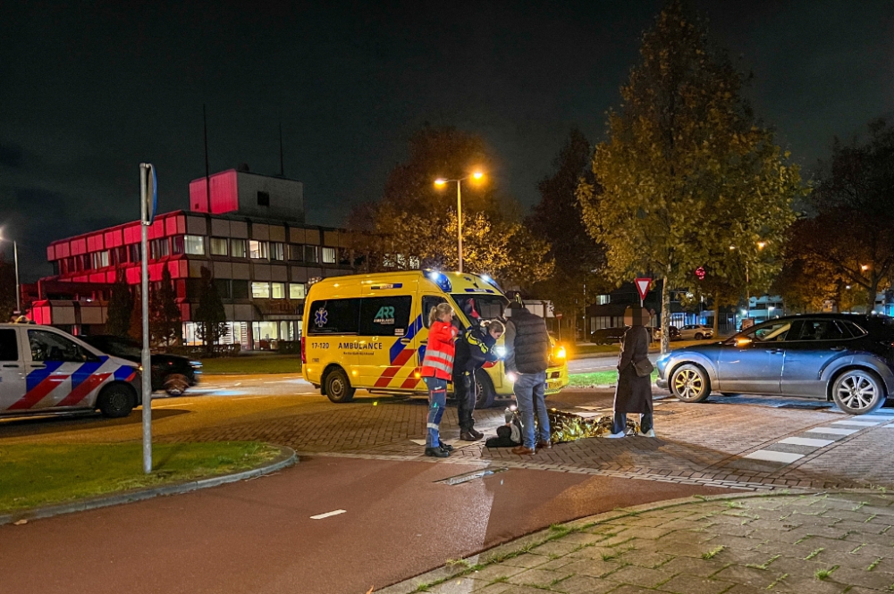
[[[279,451],[256,441],[157,444],[144,474],[139,442],[0,446],[0,512],[236,473]]]

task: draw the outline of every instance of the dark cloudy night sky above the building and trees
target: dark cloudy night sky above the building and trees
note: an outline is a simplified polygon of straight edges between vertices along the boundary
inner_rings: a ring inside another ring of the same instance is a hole
[[[205,173],[203,103],[212,172],[278,173],[282,122],[309,223],[380,197],[425,122],[483,135],[495,182],[532,205],[569,126],[602,138],[662,5],[118,4],[0,2],[0,226],[23,280],[50,272],[51,240],[138,218],[141,161],[161,209],[186,208]],[[754,71],[755,111],[798,163],[894,115],[894,2],[696,6]]]

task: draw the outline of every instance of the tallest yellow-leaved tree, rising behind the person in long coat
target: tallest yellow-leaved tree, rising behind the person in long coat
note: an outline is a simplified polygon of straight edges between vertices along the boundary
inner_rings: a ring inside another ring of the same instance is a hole
[[[609,113],[608,139],[596,146],[595,180],[583,181],[578,197],[612,280],[663,281],[667,352],[671,289],[692,287],[704,267],[718,297],[735,294],[745,265],[755,286],[769,285],[795,218],[792,200],[805,189],[742,96],[746,77],[684,2],[671,0],[658,15],[640,58]]]

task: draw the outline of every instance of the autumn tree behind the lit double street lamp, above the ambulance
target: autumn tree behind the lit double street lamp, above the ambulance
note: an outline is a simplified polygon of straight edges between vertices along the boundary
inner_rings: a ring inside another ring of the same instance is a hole
[[[507,285],[528,286],[552,272],[549,245],[522,224],[520,208],[487,172],[493,163],[482,138],[452,127],[426,126],[409,139],[409,159],[398,164],[377,203],[354,208],[349,219],[352,246],[370,272],[437,268],[456,270],[456,185],[434,180],[469,178],[480,168],[485,179],[462,182],[463,270],[486,273]]]

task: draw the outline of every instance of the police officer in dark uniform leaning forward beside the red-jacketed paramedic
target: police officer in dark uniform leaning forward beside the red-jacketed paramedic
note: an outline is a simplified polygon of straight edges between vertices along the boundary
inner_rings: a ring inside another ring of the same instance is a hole
[[[484,437],[475,431],[472,411],[478,397],[475,372],[487,362],[497,360],[493,347],[503,333],[502,322],[487,322],[485,328],[473,325],[465,335],[456,341],[456,356],[453,360],[453,393],[456,397],[457,416],[460,417],[460,439],[477,441]]]

